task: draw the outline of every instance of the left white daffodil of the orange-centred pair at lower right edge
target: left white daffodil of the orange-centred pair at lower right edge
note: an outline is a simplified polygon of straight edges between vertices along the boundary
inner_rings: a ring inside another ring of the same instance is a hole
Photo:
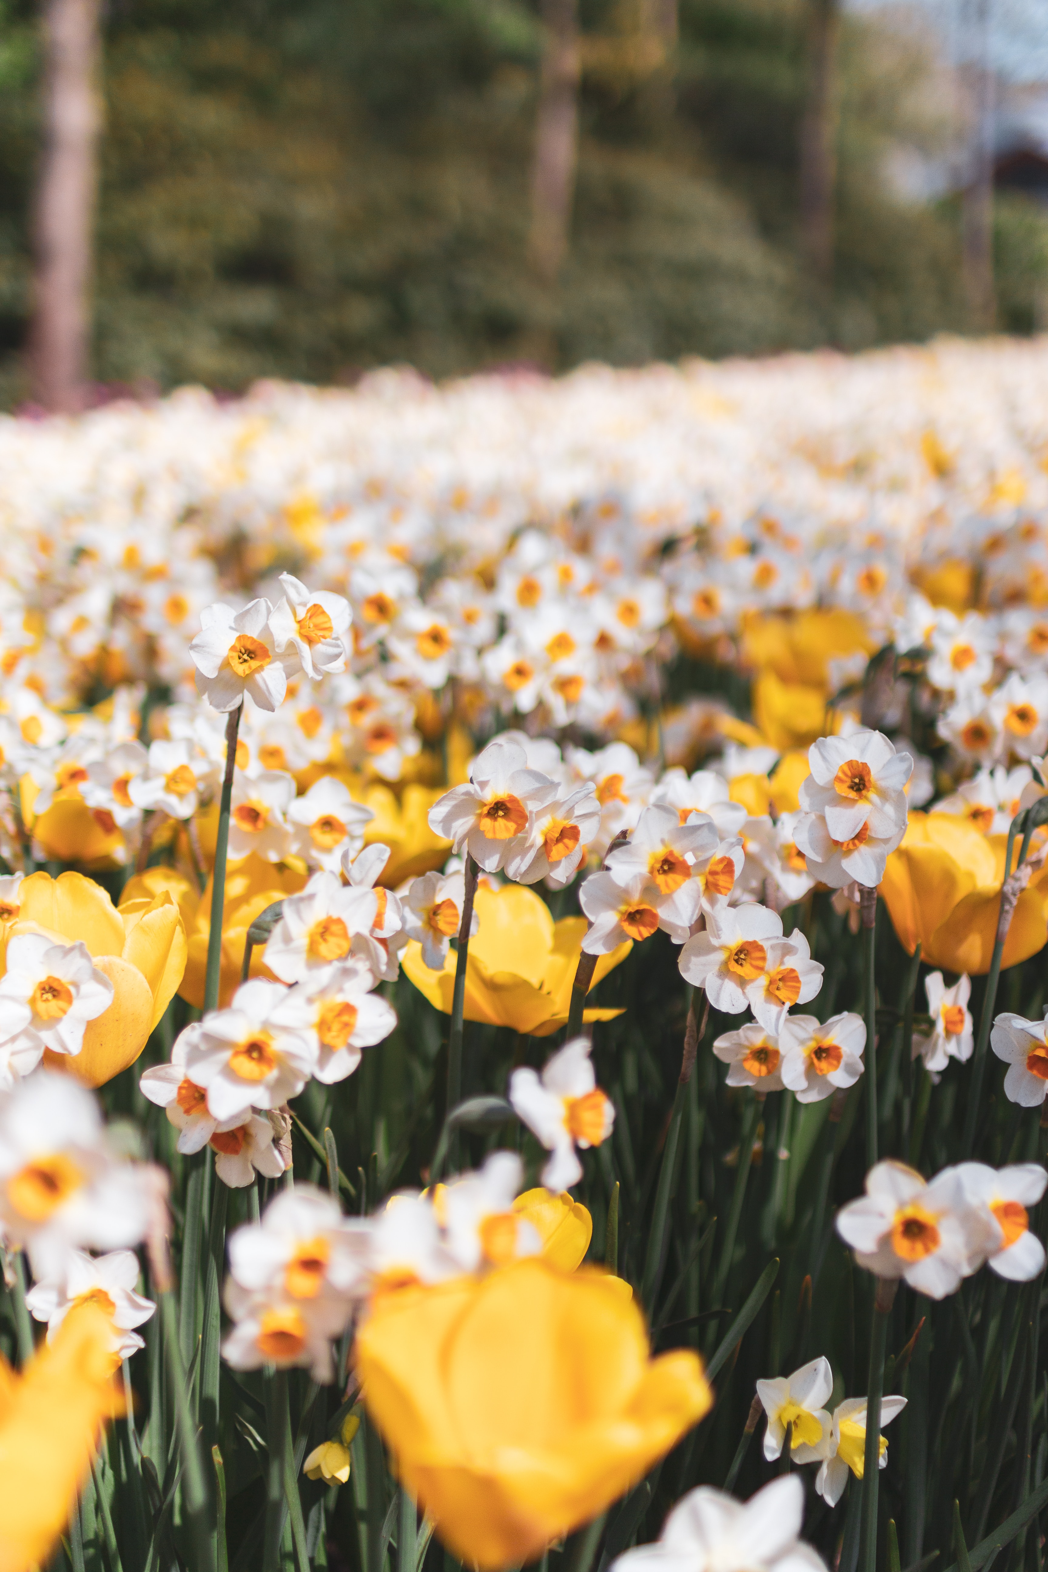
[[[837,1212],[837,1232],[867,1272],[905,1278],[929,1298],[957,1292],[999,1239],[993,1218],[971,1207],[955,1168],[929,1184],[897,1162],[870,1168],[866,1195]]]

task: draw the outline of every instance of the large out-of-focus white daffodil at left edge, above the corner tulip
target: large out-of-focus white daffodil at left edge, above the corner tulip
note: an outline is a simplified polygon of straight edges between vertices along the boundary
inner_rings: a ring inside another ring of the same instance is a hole
[[[137,1245],[148,1210],[140,1168],[113,1159],[85,1086],[38,1071],[0,1097],[0,1226],[35,1276],[61,1272],[71,1248]]]

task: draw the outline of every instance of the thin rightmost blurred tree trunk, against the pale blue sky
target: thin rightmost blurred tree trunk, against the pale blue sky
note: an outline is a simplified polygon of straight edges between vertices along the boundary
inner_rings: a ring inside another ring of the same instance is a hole
[[[993,286],[993,72],[990,69],[990,0],[973,0],[968,13],[968,63],[962,68],[968,171],[962,206],[965,291],[973,324],[988,332],[996,319]]]

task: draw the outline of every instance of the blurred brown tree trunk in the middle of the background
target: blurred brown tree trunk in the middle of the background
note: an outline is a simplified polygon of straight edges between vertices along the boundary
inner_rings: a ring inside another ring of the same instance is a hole
[[[531,261],[555,283],[567,252],[578,162],[577,0],[542,0],[545,44],[531,168]]]

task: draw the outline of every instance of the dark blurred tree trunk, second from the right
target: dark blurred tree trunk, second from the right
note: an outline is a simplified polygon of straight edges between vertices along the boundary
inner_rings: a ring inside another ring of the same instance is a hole
[[[811,0],[808,104],[801,124],[801,234],[811,269],[833,283],[841,0]]]

